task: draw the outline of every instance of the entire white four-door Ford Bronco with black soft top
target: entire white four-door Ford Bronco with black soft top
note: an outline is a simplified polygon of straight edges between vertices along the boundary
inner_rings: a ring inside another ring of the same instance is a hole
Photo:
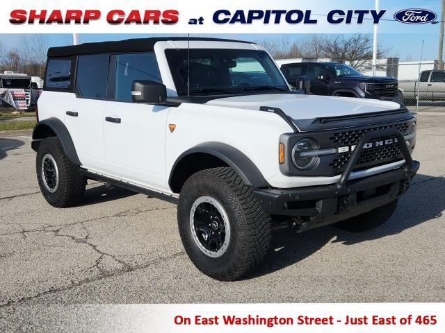
[[[177,203],[186,253],[218,280],[257,266],[274,228],[385,222],[419,169],[410,111],[297,94],[250,42],[51,48],[38,117],[32,147],[49,204],[76,205],[88,179]]]

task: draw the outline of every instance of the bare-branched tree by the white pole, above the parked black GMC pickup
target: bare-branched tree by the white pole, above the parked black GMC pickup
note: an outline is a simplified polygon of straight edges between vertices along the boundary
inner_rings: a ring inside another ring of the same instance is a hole
[[[326,57],[339,62],[348,62],[350,66],[360,70],[369,67],[369,60],[373,58],[373,40],[371,35],[361,33],[332,36],[325,39],[321,50]],[[379,47],[377,57],[382,58],[386,52]]]

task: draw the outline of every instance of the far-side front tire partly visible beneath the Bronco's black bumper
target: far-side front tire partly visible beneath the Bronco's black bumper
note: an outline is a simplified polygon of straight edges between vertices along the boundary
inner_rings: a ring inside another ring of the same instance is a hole
[[[398,199],[391,201],[385,206],[375,208],[371,212],[359,216],[351,217],[345,221],[335,223],[335,226],[341,230],[350,232],[364,232],[382,225],[396,211]]]

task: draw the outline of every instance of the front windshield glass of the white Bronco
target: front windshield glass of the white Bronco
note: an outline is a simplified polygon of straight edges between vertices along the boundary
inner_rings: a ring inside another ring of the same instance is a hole
[[[265,51],[239,49],[165,50],[178,96],[289,92],[280,70]],[[190,67],[190,74],[188,68]]]

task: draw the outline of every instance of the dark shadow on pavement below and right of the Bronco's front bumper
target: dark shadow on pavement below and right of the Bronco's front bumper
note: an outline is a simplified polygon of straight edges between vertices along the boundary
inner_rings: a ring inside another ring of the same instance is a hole
[[[289,228],[273,234],[272,248],[263,264],[246,279],[257,278],[296,264],[326,244],[350,246],[399,234],[442,216],[445,210],[445,178],[417,175],[410,191],[399,200],[394,215],[385,224],[366,232],[347,232],[329,225],[298,234]]]

